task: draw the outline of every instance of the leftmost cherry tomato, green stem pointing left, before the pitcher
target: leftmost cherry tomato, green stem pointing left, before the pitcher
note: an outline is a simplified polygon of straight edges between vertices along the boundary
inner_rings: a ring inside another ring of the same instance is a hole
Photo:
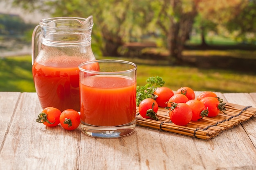
[[[36,122],[43,123],[45,126],[54,127],[60,123],[61,110],[54,107],[44,108],[38,115]]]

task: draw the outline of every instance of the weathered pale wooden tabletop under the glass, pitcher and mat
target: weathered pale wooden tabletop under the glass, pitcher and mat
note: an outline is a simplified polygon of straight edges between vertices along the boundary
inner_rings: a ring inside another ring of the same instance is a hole
[[[256,108],[256,93],[218,95]],[[41,111],[36,93],[0,92],[1,170],[256,169],[255,116],[210,140],[140,126],[128,137],[99,139],[38,124]]]

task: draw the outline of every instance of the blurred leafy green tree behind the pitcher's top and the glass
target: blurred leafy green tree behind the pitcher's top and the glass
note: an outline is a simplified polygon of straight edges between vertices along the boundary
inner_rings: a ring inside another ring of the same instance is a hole
[[[93,41],[103,56],[120,56],[121,47],[130,37],[139,38],[141,28],[150,15],[146,1],[135,0],[14,0],[25,9],[39,9],[52,17],[72,16],[87,18],[93,15]]]

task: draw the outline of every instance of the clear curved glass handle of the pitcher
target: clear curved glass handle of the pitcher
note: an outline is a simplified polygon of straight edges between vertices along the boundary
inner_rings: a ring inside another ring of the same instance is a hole
[[[32,48],[32,65],[36,60],[36,57],[41,50],[41,30],[40,25],[37,25],[32,34],[32,41],[31,41],[31,48]]]

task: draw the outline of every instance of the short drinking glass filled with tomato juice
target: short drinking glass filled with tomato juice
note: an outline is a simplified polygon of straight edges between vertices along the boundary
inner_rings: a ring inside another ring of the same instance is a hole
[[[79,65],[82,132],[101,138],[134,132],[136,71],[136,64],[123,60],[94,60]]]

